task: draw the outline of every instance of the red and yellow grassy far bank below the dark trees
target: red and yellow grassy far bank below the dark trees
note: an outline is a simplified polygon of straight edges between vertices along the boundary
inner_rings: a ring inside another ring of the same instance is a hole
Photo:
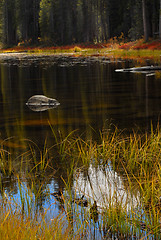
[[[1,48],[1,53],[23,52],[28,54],[74,54],[75,56],[106,56],[110,58],[153,59],[160,62],[161,41],[144,42],[139,39],[126,42],[124,39],[110,39],[107,43],[86,43],[67,46],[30,46],[27,43],[15,47]]]

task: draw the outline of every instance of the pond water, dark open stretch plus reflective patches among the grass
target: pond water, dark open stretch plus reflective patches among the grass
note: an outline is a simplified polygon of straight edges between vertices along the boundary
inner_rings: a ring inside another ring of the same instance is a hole
[[[161,80],[142,73],[115,71],[136,66],[138,63],[135,61],[111,60],[101,56],[78,58],[74,55],[24,53],[2,54],[0,57],[0,141],[1,147],[14,156],[17,172],[24,171],[18,163],[19,156],[28,151],[30,144],[40,150],[44,149],[45,144],[52,147],[55,143],[53,131],[61,133],[64,138],[76,130],[83,139],[97,140],[102,129],[112,131],[117,126],[125,132],[132,132],[133,129],[145,132],[151,129],[151,124],[154,128],[158,124]],[[142,63],[150,64],[150,60]],[[55,98],[60,105],[42,112],[32,111],[26,102],[37,94]],[[51,193],[61,190],[65,194],[64,181],[68,181],[61,164],[56,162],[55,166],[56,169],[46,172],[46,177],[37,175],[34,179],[35,189],[41,187],[42,190],[36,200],[36,211],[52,206],[47,214],[49,219],[62,211],[60,203]],[[56,172],[52,174],[53,171]],[[91,204],[96,200],[101,211],[109,202],[109,197],[113,198],[114,189],[117,188],[117,201],[129,201],[129,208],[131,202],[134,206],[139,204],[139,192],[127,194],[123,184],[125,179],[110,165],[103,169],[91,164],[88,174],[86,171],[78,171],[73,176],[72,196],[80,198],[84,194]],[[20,188],[16,178],[7,174],[3,176],[2,169],[0,173],[3,189],[11,199],[17,199],[20,203],[20,193],[22,191],[26,195],[30,180],[22,177],[23,187]],[[108,198],[105,197],[106,191],[110,192]],[[78,208],[78,212],[81,211]],[[103,231],[96,231],[93,227],[92,237],[101,239],[103,234]]]

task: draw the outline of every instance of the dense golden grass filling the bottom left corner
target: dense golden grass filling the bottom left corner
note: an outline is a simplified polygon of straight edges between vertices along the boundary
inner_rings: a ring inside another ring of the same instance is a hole
[[[63,231],[62,231],[63,229]],[[41,222],[36,219],[24,219],[21,213],[4,211],[0,213],[0,239],[70,239],[71,228],[63,219],[55,218],[45,222],[45,214]]]

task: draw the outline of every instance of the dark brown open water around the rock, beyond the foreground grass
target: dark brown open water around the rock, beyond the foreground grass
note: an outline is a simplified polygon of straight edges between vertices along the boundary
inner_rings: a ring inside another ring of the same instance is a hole
[[[135,62],[104,58],[3,57],[0,65],[0,132],[33,141],[46,136],[48,120],[64,133],[96,131],[109,124],[147,130],[158,122],[161,81],[144,74],[119,73]],[[35,94],[56,98],[60,106],[32,112],[25,103]]]

